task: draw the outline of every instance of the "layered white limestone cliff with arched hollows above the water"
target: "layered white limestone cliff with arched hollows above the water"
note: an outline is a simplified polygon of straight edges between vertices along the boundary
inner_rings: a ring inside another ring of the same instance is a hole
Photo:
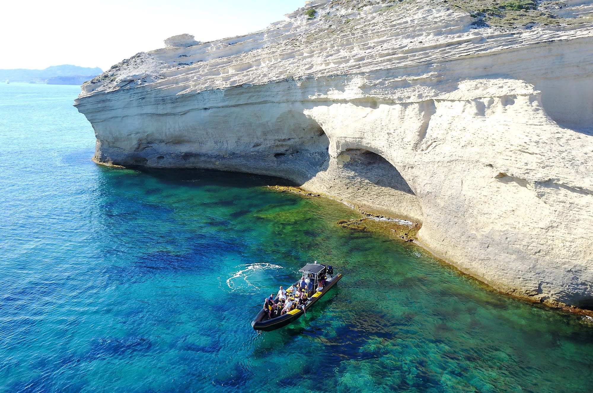
[[[171,37],[82,86],[94,159],[280,176],[421,222],[497,289],[591,308],[591,2],[494,3],[524,28],[457,3],[318,0]]]

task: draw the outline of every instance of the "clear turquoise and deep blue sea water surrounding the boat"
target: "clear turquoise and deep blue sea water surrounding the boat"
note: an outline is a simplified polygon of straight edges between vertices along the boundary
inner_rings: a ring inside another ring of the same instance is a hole
[[[110,169],[78,87],[0,84],[1,392],[591,392],[593,328],[277,180]],[[304,262],[345,277],[257,335]]]

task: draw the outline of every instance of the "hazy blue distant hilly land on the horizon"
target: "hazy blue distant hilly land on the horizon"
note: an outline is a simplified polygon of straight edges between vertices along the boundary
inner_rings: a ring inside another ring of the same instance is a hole
[[[53,65],[46,69],[0,69],[0,82],[81,85],[100,74],[103,74],[101,68],[70,64]]]

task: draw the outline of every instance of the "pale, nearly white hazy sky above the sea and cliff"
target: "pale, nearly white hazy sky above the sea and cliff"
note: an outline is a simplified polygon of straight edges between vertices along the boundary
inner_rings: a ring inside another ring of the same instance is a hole
[[[188,33],[198,41],[260,30],[304,0],[7,0],[0,68],[74,64],[108,69]]]

